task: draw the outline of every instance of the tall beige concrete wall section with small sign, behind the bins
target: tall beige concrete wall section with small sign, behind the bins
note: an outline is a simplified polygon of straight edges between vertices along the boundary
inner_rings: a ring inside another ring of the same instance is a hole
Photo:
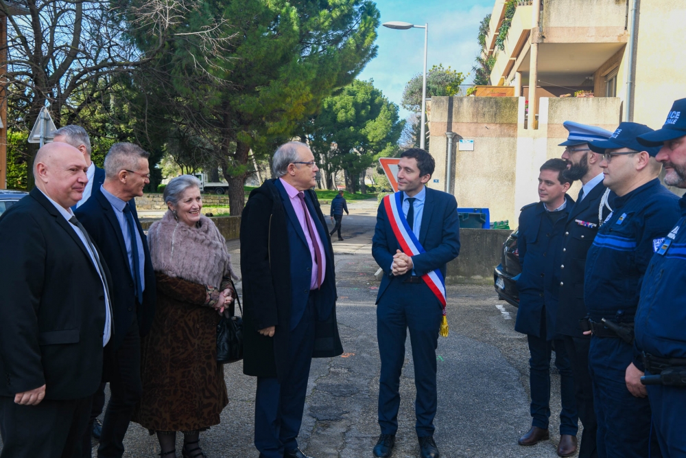
[[[457,134],[451,189],[460,207],[486,207],[491,220],[508,219],[514,205],[514,157],[517,150],[517,98],[431,98],[429,152],[436,170],[429,187],[444,191],[446,132]],[[473,139],[473,151],[459,151],[458,139]],[[438,183],[434,183],[438,179]]]

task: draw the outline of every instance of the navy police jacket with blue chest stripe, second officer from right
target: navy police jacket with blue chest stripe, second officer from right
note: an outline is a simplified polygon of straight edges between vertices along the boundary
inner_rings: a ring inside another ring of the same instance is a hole
[[[648,263],[679,214],[678,197],[659,179],[615,198],[586,260],[584,301],[593,321],[634,321]],[[633,363],[643,367],[636,357]]]

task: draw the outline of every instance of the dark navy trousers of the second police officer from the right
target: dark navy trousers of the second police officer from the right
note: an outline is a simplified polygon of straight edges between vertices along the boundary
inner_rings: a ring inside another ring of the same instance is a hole
[[[593,406],[598,420],[598,457],[660,457],[657,437],[651,437],[648,398],[635,398],[624,381],[633,359],[633,347],[613,337],[593,337],[589,371]]]

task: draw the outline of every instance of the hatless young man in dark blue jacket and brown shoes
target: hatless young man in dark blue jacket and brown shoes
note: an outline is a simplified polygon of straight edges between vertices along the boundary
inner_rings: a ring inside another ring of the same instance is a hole
[[[560,443],[558,455],[576,453],[578,417],[574,400],[574,380],[565,345],[555,339],[555,318],[559,279],[554,275],[560,264],[563,232],[574,201],[565,194],[571,180],[563,172],[563,159],[550,159],[541,165],[539,203],[526,205],[519,215],[517,249],[521,275],[517,279],[519,310],[514,330],[526,334],[529,343],[531,386],[531,429],[519,439],[519,445],[531,446],[549,439],[550,356],[555,342],[555,365],[560,372]]]

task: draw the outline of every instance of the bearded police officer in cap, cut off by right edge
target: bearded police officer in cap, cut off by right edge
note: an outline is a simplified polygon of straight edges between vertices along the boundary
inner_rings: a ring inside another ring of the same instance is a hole
[[[676,100],[665,125],[638,138],[661,146],[667,185],[686,188],[686,99]],[[636,312],[654,431],[665,458],[686,457],[686,197],[681,219],[652,256]],[[652,379],[652,380],[651,380]]]

